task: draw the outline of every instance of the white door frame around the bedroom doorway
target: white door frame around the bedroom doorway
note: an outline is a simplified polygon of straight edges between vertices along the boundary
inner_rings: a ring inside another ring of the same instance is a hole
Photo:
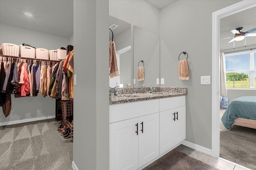
[[[212,13],[212,156],[220,156],[220,19],[256,6],[244,0]]]

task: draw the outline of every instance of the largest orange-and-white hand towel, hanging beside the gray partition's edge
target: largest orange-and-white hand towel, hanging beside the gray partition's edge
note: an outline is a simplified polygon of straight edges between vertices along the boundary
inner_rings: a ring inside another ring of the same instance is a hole
[[[116,59],[116,46],[114,41],[109,42],[109,77],[119,76]]]

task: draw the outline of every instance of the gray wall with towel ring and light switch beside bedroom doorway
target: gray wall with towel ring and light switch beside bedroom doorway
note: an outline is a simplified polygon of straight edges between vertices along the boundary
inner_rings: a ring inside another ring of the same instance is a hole
[[[186,141],[212,147],[212,85],[200,76],[212,76],[212,12],[240,0],[177,0],[160,12],[160,78],[164,86],[188,88]],[[190,79],[180,80],[178,56],[188,53]]]

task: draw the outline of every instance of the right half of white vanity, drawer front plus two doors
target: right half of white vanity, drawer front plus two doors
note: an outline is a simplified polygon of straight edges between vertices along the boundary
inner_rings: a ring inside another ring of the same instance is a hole
[[[186,139],[185,96],[159,100],[160,154]]]

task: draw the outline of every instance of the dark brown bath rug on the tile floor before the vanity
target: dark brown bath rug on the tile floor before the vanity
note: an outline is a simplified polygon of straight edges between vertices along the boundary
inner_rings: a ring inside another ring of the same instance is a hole
[[[187,154],[172,150],[143,170],[218,170]]]

